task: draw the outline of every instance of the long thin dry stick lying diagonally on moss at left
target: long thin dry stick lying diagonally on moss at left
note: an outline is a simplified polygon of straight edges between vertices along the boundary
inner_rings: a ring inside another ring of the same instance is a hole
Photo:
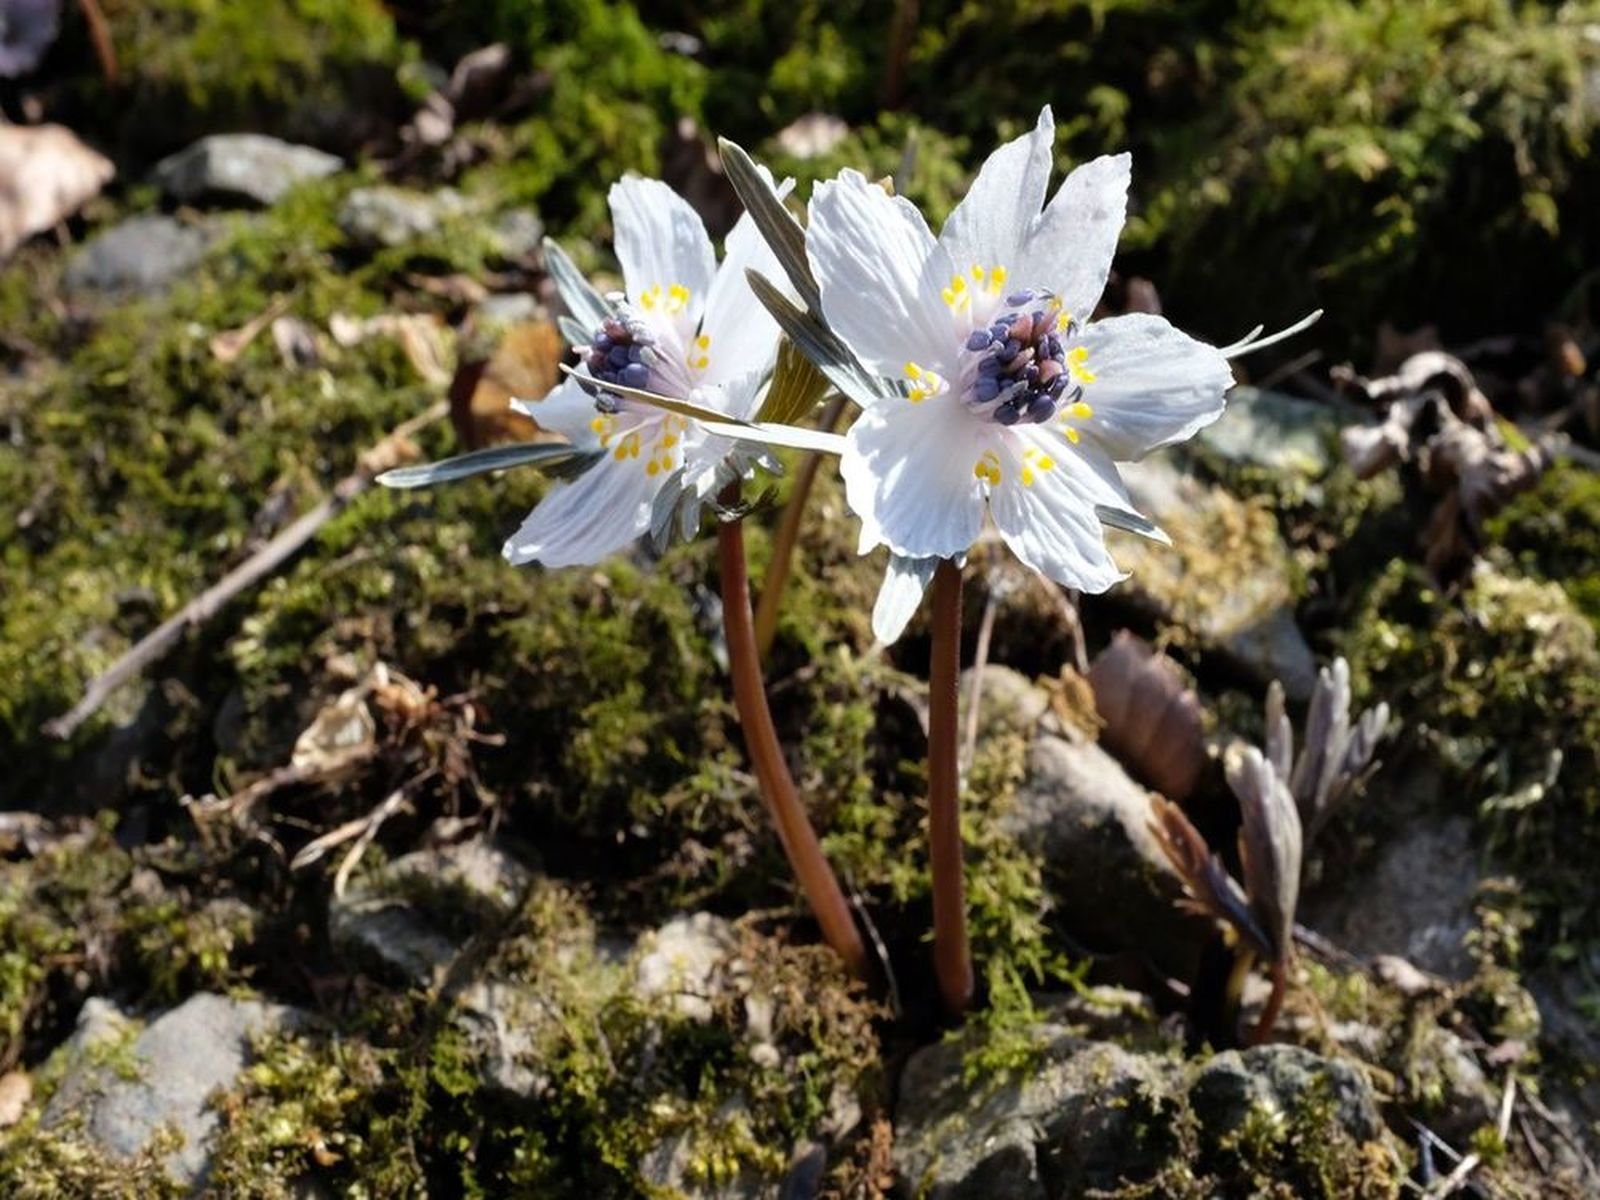
[[[80,699],[70,712],[45,722],[45,734],[62,741],[70,738],[78,726],[83,725],[83,722],[99,710],[101,704],[104,704],[107,698],[117,691],[117,688],[130,682],[150,664],[162,659],[182,640],[182,635],[187,630],[203,626],[222,611],[222,608],[246,587],[258,584],[261,579],[278,570],[278,566],[282,566],[294,555],[296,550],[309,542],[323,525],[344,512],[350,501],[371,488],[373,480],[379,474],[397,466],[397,462],[413,453],[406,445],[413,434],[434,424],[435,421],[442,421],[448,413],[450,405],[446,402],[440,402],[421,416],[414,416],[405,424],[395,427],[395,430],[382,442],[362,454],[360,466],[355,472],[339,480],[333,486],[333,493],[322,501],[322,504],[278,533],[272,541],[250,555],[250,558],[242,562],[218,582],[178,610],[176,614],[170,616],[147,635],[139,638],[139,642],[136,642],[133,648],[117,659],[104,674],[90,680],[90,686],[83,691],[83,699]]]

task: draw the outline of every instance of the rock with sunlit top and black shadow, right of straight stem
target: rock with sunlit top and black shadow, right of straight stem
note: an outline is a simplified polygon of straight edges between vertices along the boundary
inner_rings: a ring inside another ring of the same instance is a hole
[[[1013,712],[1034,707],[1011,704]],[[1005,821],[1042,856],[1053,918],[1069,936],[1094,950],[1136,950],[1187,979],[1206,923],[1178,907],[1182,882],[1149,822],[1150,794],[1074,731],[1034,738]]]

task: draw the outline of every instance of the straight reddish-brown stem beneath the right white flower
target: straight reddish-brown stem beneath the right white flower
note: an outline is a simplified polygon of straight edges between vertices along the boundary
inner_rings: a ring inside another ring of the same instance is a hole
[[[928,666],[928,858],[933,869],[933,970],[952,1016],[973,1002],[962,882],[962,774],[955,712],[962,667],[962,568],[933,573],[933,661]]]

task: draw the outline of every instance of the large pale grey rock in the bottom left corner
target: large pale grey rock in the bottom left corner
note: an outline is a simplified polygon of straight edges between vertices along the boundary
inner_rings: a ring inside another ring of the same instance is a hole
[[[218,1128],[208,1098],[245,1069],[253,1037],[306,1021],[282,1005],[200,994],[139,1029],[114,1005],[90,1000],[67,1046],[70,1066],[42,1123],[51,1128],[82,1118],[85,1138],[120,1158],[139,1154],[158,1131],[176,1130],[182,1144],[168,1155],[166,1173],[198,1192]],[[107,1053],[122,1040],[123,1053]]]

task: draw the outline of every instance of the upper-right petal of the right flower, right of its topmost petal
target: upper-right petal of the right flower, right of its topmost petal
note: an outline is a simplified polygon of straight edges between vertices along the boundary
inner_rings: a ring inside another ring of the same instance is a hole
[[[1128,216],[1131,171],[1133,158],[1126,154],[1094,158],[1074,170],[1022,250],[1026,282],[1053,290],[1078,322],[1093,315],[1106,291],[1110,259]]]

